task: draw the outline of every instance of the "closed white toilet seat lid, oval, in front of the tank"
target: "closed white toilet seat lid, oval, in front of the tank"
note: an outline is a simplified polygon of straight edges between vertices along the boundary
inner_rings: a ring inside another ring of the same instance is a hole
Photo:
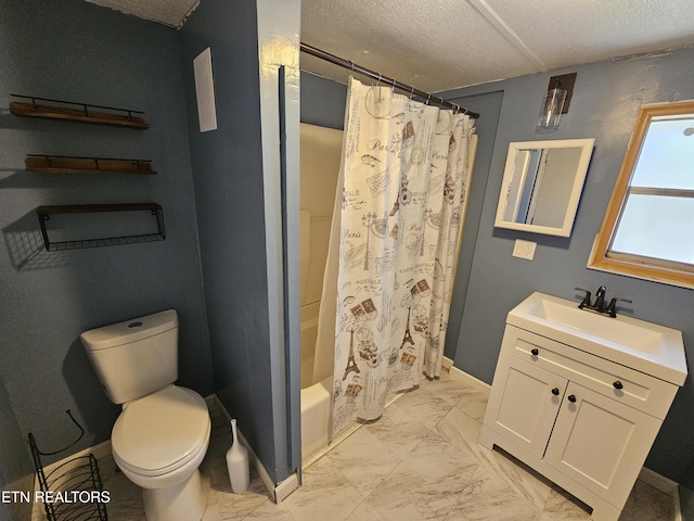
[[[113,427],[118,466],[140,475],[175,471],[206,450],[211,422],[202,396],[169,385],[126,405]]]

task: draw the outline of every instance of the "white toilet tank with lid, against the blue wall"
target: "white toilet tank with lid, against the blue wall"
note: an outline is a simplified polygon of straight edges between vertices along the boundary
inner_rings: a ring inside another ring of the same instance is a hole
[[[85,331],[79,338],[114,404],[142,397],[178,379],[175,309]]]

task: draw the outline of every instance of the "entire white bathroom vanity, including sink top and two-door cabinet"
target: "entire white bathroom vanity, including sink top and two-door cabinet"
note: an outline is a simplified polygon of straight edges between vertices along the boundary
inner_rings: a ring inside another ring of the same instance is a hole
[[[616,521],[678,389],[680,331],[532,293],[506,318],[480,443]]]

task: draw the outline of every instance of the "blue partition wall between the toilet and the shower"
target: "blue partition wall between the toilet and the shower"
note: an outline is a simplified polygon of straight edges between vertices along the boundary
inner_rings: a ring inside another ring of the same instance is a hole
[[[267,94],[264,81],[277,75],[277,67],[259,62],[258,41],[264,40],[259,27],[269,25],[281,33],[294,18],[294,34],[298,35],[299,10],[298,4],[285,3],[268,16],[256,12],[256,3],[260,2],[202,2],[181,30],[182,66],[215,391],[278,483],[296,467],[293,452],[299,431],[290,432],[286,416],[291,407],[285,364],[291,360],[285,357],[283,339],[275,335],[282,335],[278,329],[283,323],[278,323],[273,300],[283,282],[281,274],[273,272],[277,266],[269,253],[269,245],[279,246],[282,256],[282,230],[274,230],[280,233],[279,244],[272,237],[281,201],[277,208],[272,206],[267,198],[279,194],[266,183],[277,180],[279,185],[280,171],[265,171],[270,166],[264,164],[262,144],[264,140],[275,142],[279,152],[279,130],[268,136],[269,129],[277,130],[279,112],[271,111],[272,120],[264,119],[261,101]],[[293,15],[285,16],[281,7],[294,10]],[[273,24],[273,17],[281,17],[282,23]],[[201,134],[192,60],[207,47],[213,55],[218,129]],[[269,97],[277,102],[277,82],[270,90]],[[294,135],[298,131],[296,111]],[[282,307],[279,313],[283,316]],[[298,341],[296,344],[298,357]],[[298,364],[295,372],[298,376]],[[298,383],[292,399],[298,415]]]

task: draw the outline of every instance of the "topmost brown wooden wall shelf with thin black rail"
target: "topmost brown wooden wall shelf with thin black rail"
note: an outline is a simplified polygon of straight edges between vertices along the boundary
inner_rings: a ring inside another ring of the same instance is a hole
[[[28,100],[26,102],[13,101],[10,103],[10,112],[15,116],[91,123],[95,125],[136,128],[140,130],[150,128],[149,123],[146,123],[141,116],[136,115],[144,114],[139,111],[116,109],[113,106],[90,105],[87,103],[74,103],[72,101],[50,100],[48,98],[36,98],[31,96],[11,96]],[[57,105],[43,104],[40,102],[57,103]]]

